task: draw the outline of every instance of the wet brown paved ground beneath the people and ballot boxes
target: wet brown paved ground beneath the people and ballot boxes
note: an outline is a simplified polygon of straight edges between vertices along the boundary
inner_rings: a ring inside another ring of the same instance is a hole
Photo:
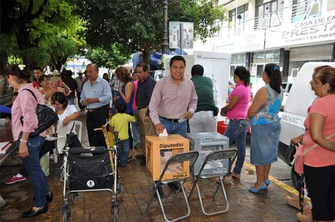
[[[88,145],[85,114],[81,113],[80,120],[83,121],[83,145]],[[248,153],[248,152],[247,152]],[[248,154],[247,154],[248,155]],[[248,157],[246,158],[248,161]],[[133,159],[125,168],[120,168],[120,175],[125,184],[126,192],[124,200],[118,198],[120,212],[118,221],[121,222],[160,222],[164,221],[157,198],[148,210],[146,205],[152,193],[152,180],[144,166],[140,166],[140,160]],[[20,160],[15,157],[6,161],[0,167],[0,194],[7,201],[7,204],[0,208],[0,221],[3,222],[61,222],[62,221],[62,185],[60,182],[61,160],[54,163],[50,160],[50,176],[47,178],[53,192],[53,201],[49,204],[46,214],[33,219],[23,219],[21,214],[30,209],[33,203],[33,192],[30,179],[17,182],[12,185],[4,184],[5,180],[15,175],[20,169]],[[279,163],[280,164],[280,163]],[[286,167],[286,166],[282,166]],[[270,172],[279,174],[280,171],[274,166]],[[275,175],[276,176],[276,175]],[[288,176],[288,175],[287,175]],[[241,172],[241,179],[225,183],[228,195],[229,211],[217,216],[205,216],[200,207],[196,193],[190,200],[191,216],[183,221],[225,221],[225,222],[289,222],[296,221],[295,214],[298,210],[285,202],[285,196],[291,195],[287,190],[274,183],[271,183],[267,190],[258,194],[250,193],[247,187],[253,185],[256,175],[249,167],[244,167]],[[190,192],[193,180],[189,178],[185,183],[186,193]],[[199,186],[203,191],[214,190],[216,183],[209,180],[202,180]],[[171,218],[180,217],[187,212],[181,194],[172,203],[174,191],[167,185],[163,186],[166,214]],[[212,198],[210,191],[203,193],[203,202],[207,212],[222,210],[224,197],[219,191],[215,198]],[[111,222],[111,196],[108,192],[80,193],[75,203],[70,203],[71,222]]]

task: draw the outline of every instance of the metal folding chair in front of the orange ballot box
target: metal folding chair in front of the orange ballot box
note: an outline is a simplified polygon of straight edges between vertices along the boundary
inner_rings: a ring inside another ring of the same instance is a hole
[[[166,181],[162,181],[162,179],[163,179],[165,171],[168,169],[169,165],[173,164],[173,163],[180,163],[180,162],[184,162],[184,161],[190,161],[190,172],[191,172],[191,169],[193,168],[194,163],[195,163],[196,159],[198,158],[198,156],[199,156],[199,153],[197,151],[188,151],[188,152],[178,153],[178,154],[173,155],[169,158],[169,160],[166,162],[166,164],[164,166],[164,169],[163,169],[162,173],[160,174],[159,180],[156,183],[153,182],[154,190],[153,190],[151,198],[150,198],[150,200],[149,200],[149,202],[146,206],[146,210],[148,210],[148,208],[149,208],[149,206],[152,202],[152,199],[155,197],[155,195],[157,195],[159,205],[160,205],[160,208],[161,208],[162,213],[163,213],[163,217],[164,217],[166,222],[176,222],[176,221],[182,220],[182,219],[187,218],[187,217],[190,216],[191,208],[190,208],[189,201],[187,200],[186,192],[185,192],[185,189],[184,189],[184,186],[183,186],[186,179],[182,178],[182,179],[173,179],[173,180],[166,180]],[[183,183],[181,183],[181,181],[183,181]],[[164,211],[164,206],[163,206],[162,200],[159,196],[158,187],[161,184],[168,184],[168,183],[171,183],[171,182],[178,182],[179,183],[179,186],[180,186],[179,189],[181,189],[182,192],[183,192],[184,200],[185,200],[188,212],[187,212],[186,215],[184,215],[182,217],[179,217],[179,218],[176,218],[176,219],[173,219],[173,220],[170,221],[166,217],[166,214],[165,214],[165,211]]]

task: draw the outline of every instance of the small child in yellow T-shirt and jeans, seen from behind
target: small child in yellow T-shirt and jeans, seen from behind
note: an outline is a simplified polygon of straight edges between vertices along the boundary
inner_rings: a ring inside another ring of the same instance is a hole
[[[117,113],[112,117],[112,121],[109,123],[110,132],[113,134],[114,131],[119,132],[118,137],[120,139],[120,164],[122,167],[128,164],[129,155],[129,135],[128,125],[129,122],[135,122],[135,116],[126,114],[126,104],[119,102],[116,104]]]

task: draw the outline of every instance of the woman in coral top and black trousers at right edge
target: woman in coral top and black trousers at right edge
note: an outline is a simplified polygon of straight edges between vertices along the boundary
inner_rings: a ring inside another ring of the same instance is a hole
[[[322,69],[313,76],[312,87],[320,98],[309,108],[304,122],[303,151],[306,186],[312,200],[314,221],[335,220],[335,68]],[[294,142],[293,138],[291,142]]]

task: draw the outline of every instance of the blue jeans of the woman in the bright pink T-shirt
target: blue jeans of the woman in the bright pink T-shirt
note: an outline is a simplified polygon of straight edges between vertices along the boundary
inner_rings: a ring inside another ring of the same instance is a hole
[[[245,159],[245,135],[248,127],[249,123],[245,119],[231,119],[224,134],[224,136],[229,138],[229,147],[231,147],[234,141],[238,147],[238,159],[233,171],[235,174],[240,174],[243,167]],[[230,163],[231,159],[229,160],[229,164]],[[230,174],[229,172],[228,175]]]

